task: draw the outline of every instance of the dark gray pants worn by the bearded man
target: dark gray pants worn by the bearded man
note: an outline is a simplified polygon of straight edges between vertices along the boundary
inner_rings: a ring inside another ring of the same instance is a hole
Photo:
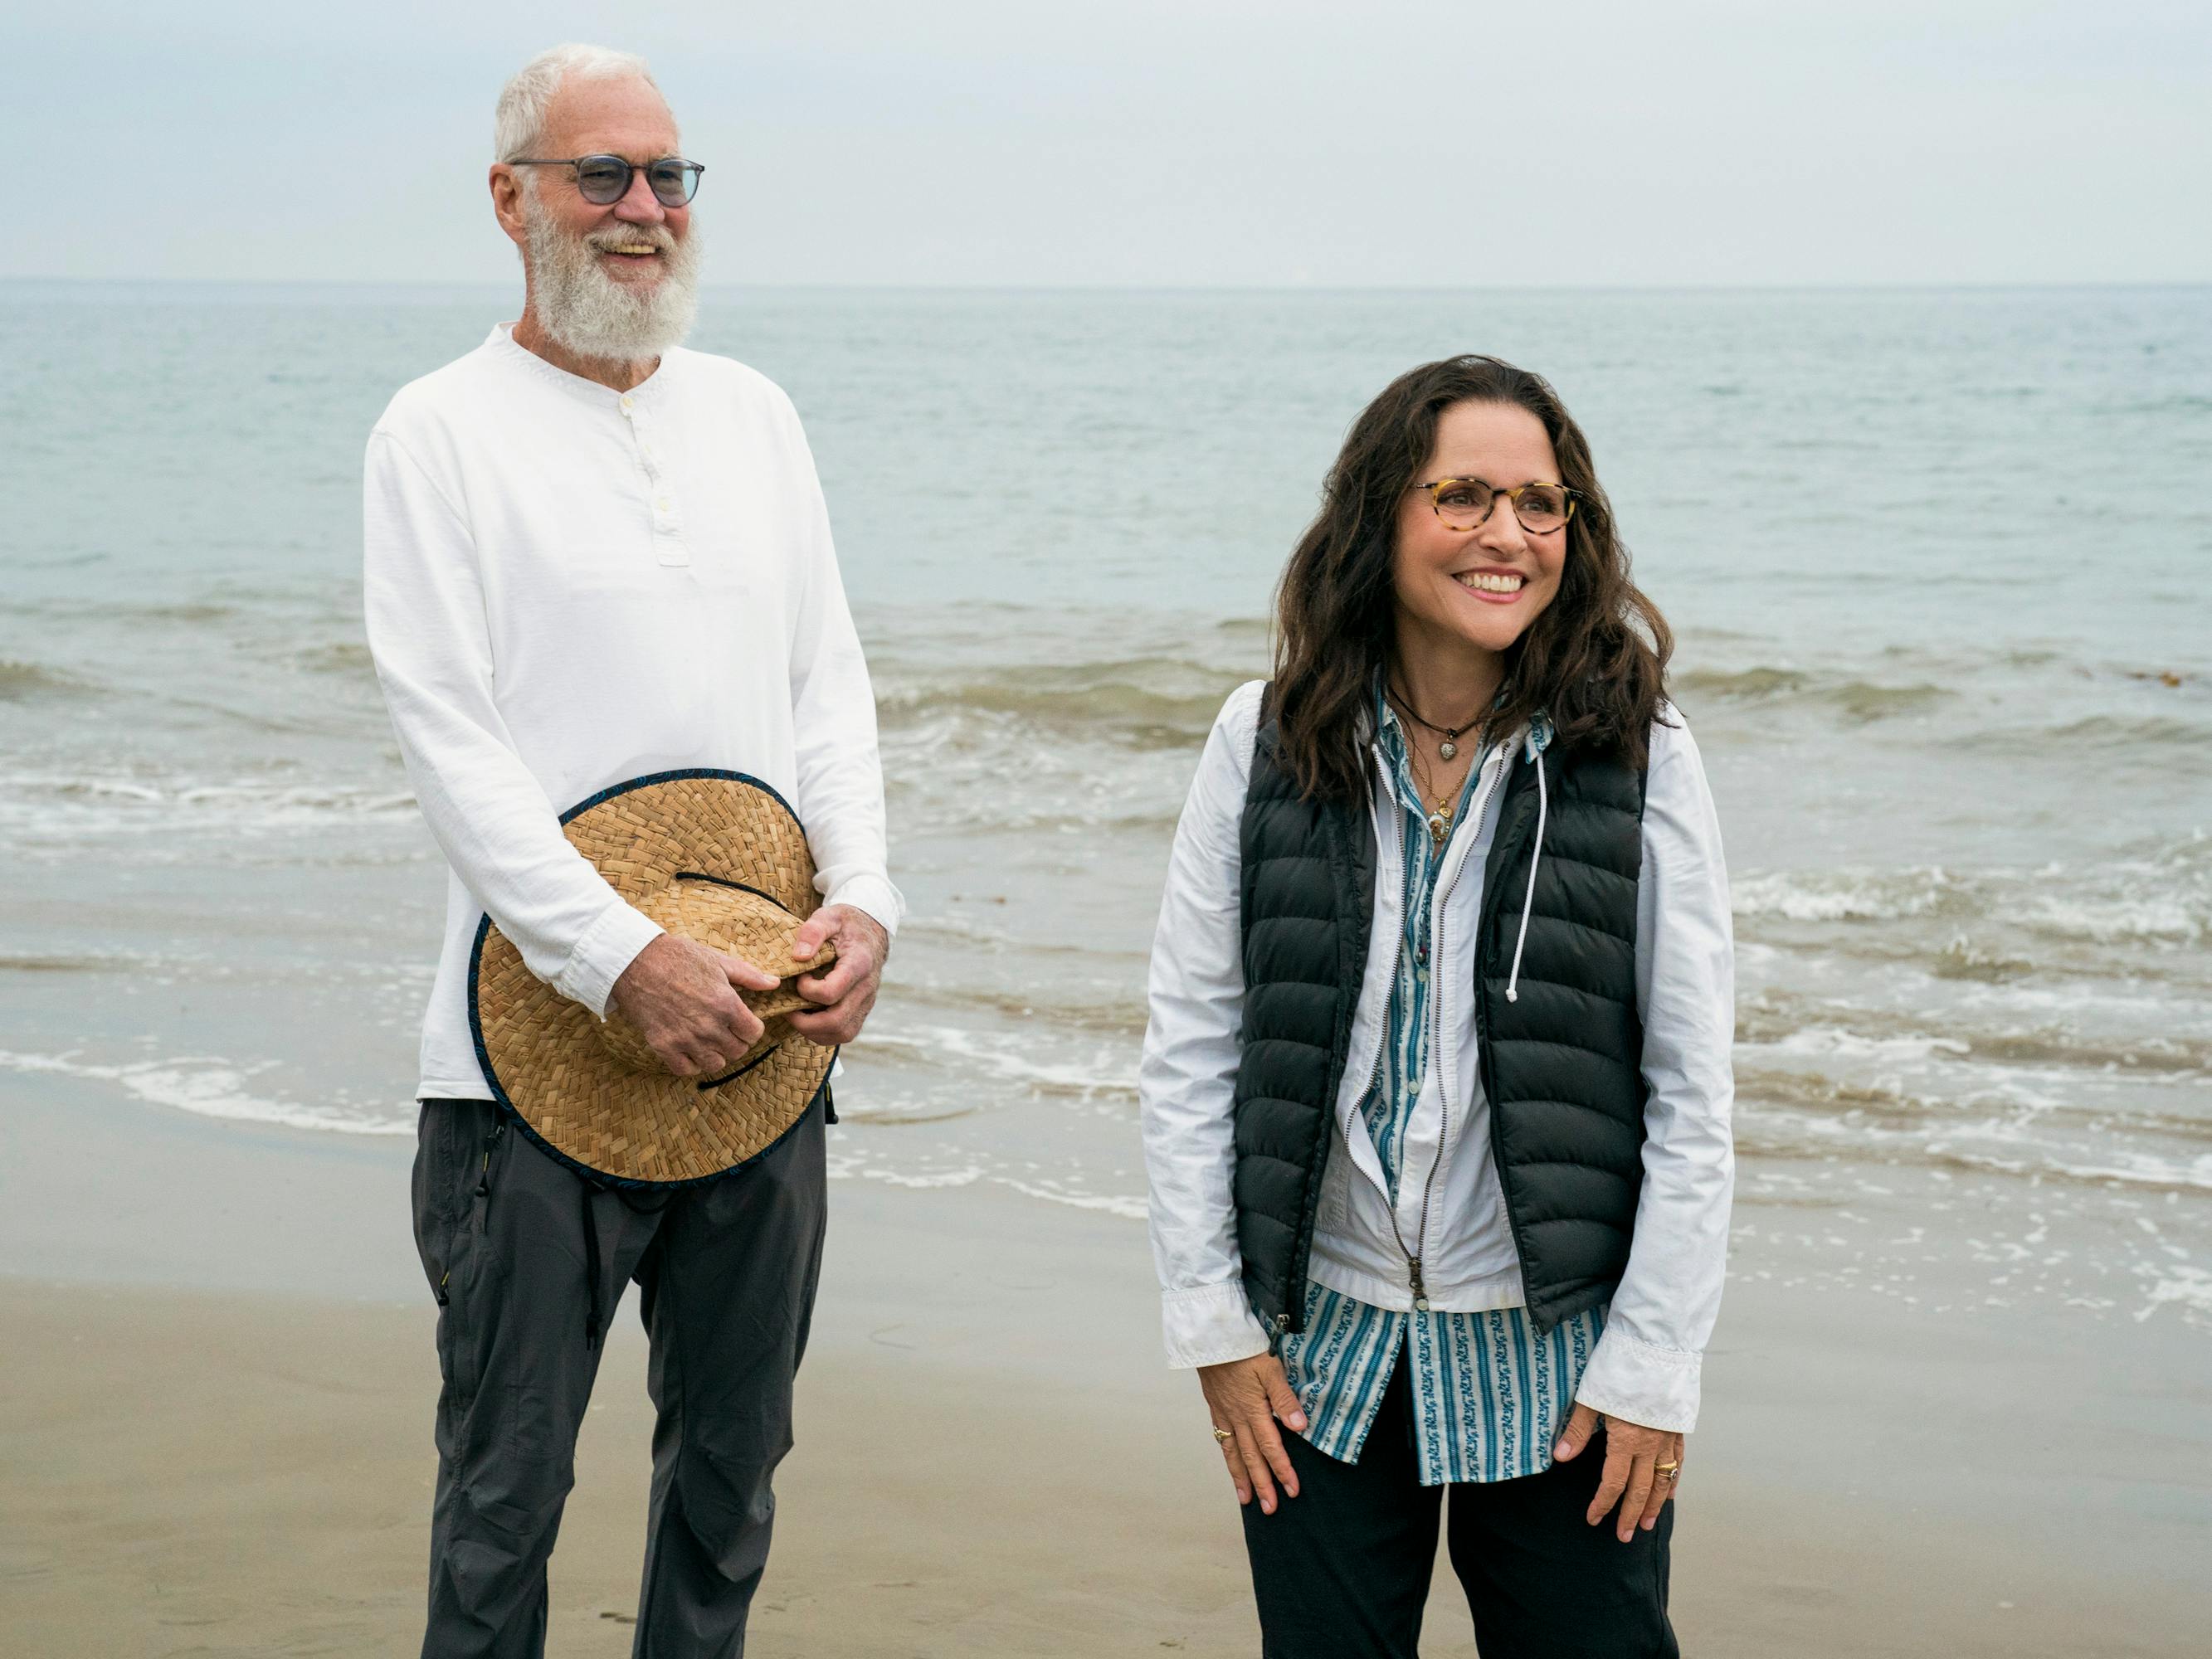
[[[416,1137],[445,1376],[425,1659],[544,1652],[546,1557],[599,1369],[588,1310],[628,1279],[659,1411],[633,1655],[743,1655],[821,1272],[821,1102],[754,1164],[668,1194],[588,1188],[489,1099],[422,1102]]]

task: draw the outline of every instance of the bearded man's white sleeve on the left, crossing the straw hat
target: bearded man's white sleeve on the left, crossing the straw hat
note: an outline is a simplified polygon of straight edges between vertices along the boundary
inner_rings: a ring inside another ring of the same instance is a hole
[[[369,653],[407,781],[460,883],[531,973],[597,1015],[661,931],[568,845],[493,701],[491,635],[467,520],[389,431],[363,487]]]

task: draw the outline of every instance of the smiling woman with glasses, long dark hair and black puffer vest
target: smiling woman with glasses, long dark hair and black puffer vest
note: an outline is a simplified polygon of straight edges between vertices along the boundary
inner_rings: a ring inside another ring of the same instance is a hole
[[[1206,743],[1144,1139],[1270,1659],[1413,1655],[1440,1526],[1484,1659],[1677,1652],[1734,969],[1670,646],[1551,385],[1447,358],[1354,422]]]

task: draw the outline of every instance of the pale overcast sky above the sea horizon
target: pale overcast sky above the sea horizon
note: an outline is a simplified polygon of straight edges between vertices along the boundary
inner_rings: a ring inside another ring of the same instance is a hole
[[[535,49],[641,51],[708,281],[2212,279],[2203,0],[0,0],[4,276],[513,272]]]

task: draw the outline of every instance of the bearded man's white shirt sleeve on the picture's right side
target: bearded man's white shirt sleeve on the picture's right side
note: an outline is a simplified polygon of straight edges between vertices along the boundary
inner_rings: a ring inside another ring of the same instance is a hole
[[[787,403],[783,409],[794,449],[790,465],[803,471],[805,495],[790,670],[799,759],[794,805],[814,849],[814,885],[823,902],[863,909],[896,933],[907,902],[891,885],[887,865],[876,695],[845,604],[814,456],[796,411]]]

